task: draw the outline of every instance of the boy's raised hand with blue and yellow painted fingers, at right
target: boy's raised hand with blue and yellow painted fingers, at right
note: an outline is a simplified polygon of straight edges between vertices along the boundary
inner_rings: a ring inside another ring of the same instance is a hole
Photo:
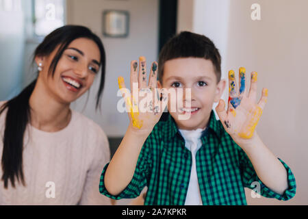
[[[239,70],[240,89],[235,83],[233,70],[229,71],[229,101],[227,112],[224,101],[220,99],[216,112],[224,129],[239,146],[250,144],[256,136],[255,128],[259,122],[268,99],[268,89],[263,88],[259,103],[257,99],[257,73],[251,73],[251,88],[247,94],[245,68]]]

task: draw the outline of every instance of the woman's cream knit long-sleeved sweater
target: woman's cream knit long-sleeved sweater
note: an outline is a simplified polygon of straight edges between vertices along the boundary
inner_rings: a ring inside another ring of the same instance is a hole
[[[0,116],[0,158],[6,111]],[[26,186],[15,180],[16,188],[9,181],[5,189],[0,181],[0,205],[110,205],[110,199],[99,192],[101,171],[109,161],[104,131],[79,112],[72,110],[68,126],[57,132],[27,125],[23,150]]]

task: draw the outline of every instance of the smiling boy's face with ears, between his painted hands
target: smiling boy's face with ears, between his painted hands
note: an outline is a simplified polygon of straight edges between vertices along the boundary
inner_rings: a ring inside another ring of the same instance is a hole
[[[224,80],[217,83],[211,60],[196,57],[168,60],[164,64],[162,84],[158,81],[159,88],[173,88],[177,93],[179,88],[183,88],[183,95],[177,95],[177,98],[169,95],[168,111],[177,127],[187,130],[205,128],[213,103],[219,101],[225,84]],[[190,88],[191,95],[185,95],[185,88]],[[172,112],[170,105],[175,104],[175,101],[178,104],[175,112]],[[183,117],[188,119],[179,119]]]

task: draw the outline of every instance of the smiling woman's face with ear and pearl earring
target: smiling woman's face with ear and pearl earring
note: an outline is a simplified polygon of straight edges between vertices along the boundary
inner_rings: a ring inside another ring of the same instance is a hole
[[[101,53],[97,44],[87,38],[73,40],[62,53],[52,77],[49,66],[57,49],[48,56],[36,57],[36,64],[42,63],[38,81],[42,81],[48,94],[60,103],[69,104],[84,94],[99,72]]]

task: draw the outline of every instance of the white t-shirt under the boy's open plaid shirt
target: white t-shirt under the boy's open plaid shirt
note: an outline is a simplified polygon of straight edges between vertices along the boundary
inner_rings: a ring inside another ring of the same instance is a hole
[[[192,170],[190,172],[190,183],[186,194],[185,205],[202,205],[198,176],[196,172],[196,152],[201,148],[201,135],[205,129],[183,130],[179,132],[185,139],[185,147],[192,153]]]

